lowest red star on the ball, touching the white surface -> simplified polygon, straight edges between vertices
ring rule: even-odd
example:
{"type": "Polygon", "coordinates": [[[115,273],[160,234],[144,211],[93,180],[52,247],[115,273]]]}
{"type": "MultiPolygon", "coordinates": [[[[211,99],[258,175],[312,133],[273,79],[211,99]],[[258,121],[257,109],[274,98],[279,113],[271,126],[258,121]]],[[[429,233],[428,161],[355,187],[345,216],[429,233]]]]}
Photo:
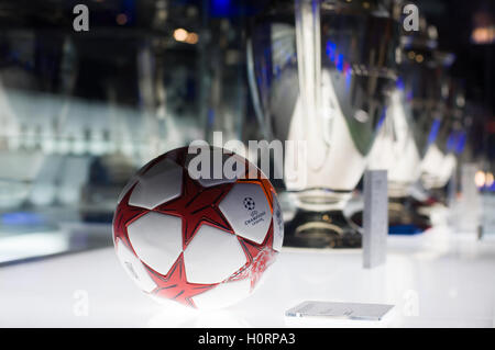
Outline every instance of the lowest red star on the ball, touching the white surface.
{"type": "Polygon", "coordinates": [[[186,269],[184,267],[184,252],[177,258],[166,276],[154,271],[148,266],[144,266],[150,271],[150,276],[157,285],[157,287],[152,291],[153,295],[173,300],[186,306],[196,307],[193,297],[217,286],[217,284],[198,284],[187,281],[186,269]]]}

